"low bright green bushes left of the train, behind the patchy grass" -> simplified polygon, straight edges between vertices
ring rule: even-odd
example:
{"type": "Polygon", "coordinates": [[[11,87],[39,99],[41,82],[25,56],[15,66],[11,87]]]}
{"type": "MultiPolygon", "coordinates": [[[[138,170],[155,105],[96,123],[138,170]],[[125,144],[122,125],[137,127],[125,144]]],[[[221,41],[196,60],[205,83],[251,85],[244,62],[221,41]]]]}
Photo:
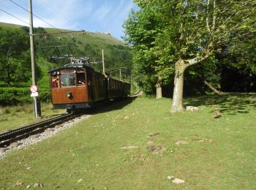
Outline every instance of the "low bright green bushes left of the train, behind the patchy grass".
{"type": "MultiPolygon", "coordinates": [[[[0,88],[0,105],[17,105],[31,103],[29,88],[0,88]]],[[[50,102],[50,89],[40,88],[39,99],[42,102],[50,102]]]]}

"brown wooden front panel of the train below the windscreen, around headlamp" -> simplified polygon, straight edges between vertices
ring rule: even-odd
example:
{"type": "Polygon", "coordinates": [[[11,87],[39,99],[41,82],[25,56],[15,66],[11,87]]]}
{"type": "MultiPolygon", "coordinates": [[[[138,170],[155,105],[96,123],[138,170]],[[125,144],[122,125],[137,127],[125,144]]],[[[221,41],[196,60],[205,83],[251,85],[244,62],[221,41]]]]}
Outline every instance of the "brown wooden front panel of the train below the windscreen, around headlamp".
{"type": "Polygon", "coordinates": [[[86,86],[52,88],[51,96],[52,96],[53,104],[88,102],[88,94],[87,94],[86,86]],[[68,92],[71,92],[72,98],[67,97],[68,92]]]}

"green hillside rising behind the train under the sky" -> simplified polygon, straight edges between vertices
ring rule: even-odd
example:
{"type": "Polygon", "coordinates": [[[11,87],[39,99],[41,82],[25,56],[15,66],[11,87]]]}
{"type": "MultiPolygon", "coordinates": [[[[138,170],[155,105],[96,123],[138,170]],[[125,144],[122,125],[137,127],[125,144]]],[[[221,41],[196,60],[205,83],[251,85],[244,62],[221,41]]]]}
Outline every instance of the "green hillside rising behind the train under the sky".
{"type": "MultiPolygon", "coordinates": [[[[0,23],[1,28],[20,28],[29,35],[29,27],[10,23],[0,23]]],[[[132,57],[129,47],[120,40],[112,37],[110,34],[93,33],[90,31],[81,31],[68,34],[54,34],[61,31],[68,31],[56,28],[34,28],[34,34],[46,34],[34,37],[36,49],[36,64],[42,71],[42,77],[38,80],[38,85],[42,88],[48,88],[48,70],[69,63],[69,59],[53,59],[52,56],[86,56],[90,58],[91,66],[102,71],[102,50],[105,54],[105,67],[118,68],[125,67],[123,72],[130,73],[132,69],[132,57]],[[58,47],[56,46],[63,46],[58,47]]],[[[115,72],[115,71],[113,71],[115,72]]],[[[118,70],[116,70],[118,73],[118,70]]],[[[114,74],[114,73],[113,73],[114,74]]],[[[28,86],[31,81],[24,84],[28,86]],[[27,84],[27,85],[26,85],[27,84]]]]}

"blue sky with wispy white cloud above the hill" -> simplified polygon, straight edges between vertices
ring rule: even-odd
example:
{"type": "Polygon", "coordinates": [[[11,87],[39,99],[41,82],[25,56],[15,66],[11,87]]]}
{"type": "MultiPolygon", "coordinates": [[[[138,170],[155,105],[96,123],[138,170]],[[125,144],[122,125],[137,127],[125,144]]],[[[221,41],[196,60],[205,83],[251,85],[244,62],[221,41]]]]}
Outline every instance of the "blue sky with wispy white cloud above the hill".
{"type": "MultiPolygon", "coordinates": [[[[29,26],[28,0],[0,0],[0,22],[29,26]],[[5,11],[5,12],[3,12],[5,11]],[[6,12],[17,18],[8,15],[6,12]],[[23,21],[26,23],[24,23],[23,21]]],[[[132,0],[32,0],[32,12],[56,28],[85,30],[92,32],[108,31],[121,40],[124,37],[122,24],[130,10],[138,9],[132,0]]],[[[33,18],[34,27],[53,28],[47,23],[33,18]]]]}

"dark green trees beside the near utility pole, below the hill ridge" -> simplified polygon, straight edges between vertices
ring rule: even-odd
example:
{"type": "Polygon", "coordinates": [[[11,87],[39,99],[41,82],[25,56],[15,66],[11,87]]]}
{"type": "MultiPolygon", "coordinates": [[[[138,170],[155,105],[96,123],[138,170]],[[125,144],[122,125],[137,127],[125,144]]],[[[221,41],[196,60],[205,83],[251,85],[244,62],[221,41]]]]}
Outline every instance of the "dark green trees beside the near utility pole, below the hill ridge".
{"type": "MultiPolygon", "coordinates": [[[[20,28],[0,27],[0,81],[11,86],[31,78],[29,36],[20,28]]],[[[38,77],[41,76],[37,66],[38,77]]]]}

